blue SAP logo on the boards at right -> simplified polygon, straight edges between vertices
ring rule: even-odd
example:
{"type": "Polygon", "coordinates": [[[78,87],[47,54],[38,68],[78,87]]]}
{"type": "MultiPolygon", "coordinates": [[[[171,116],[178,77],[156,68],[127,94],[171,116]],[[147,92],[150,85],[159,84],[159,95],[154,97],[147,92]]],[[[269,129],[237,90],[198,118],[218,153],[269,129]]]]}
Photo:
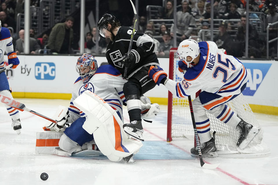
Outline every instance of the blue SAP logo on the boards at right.
{"type": "Polygon", "coordinates": [[[271,64],[259,63],[243,63],[247,71],[252,75],[246,84],[246,88],[242,92],[243,95],[253,96],[264,80],[271,64]]]}

